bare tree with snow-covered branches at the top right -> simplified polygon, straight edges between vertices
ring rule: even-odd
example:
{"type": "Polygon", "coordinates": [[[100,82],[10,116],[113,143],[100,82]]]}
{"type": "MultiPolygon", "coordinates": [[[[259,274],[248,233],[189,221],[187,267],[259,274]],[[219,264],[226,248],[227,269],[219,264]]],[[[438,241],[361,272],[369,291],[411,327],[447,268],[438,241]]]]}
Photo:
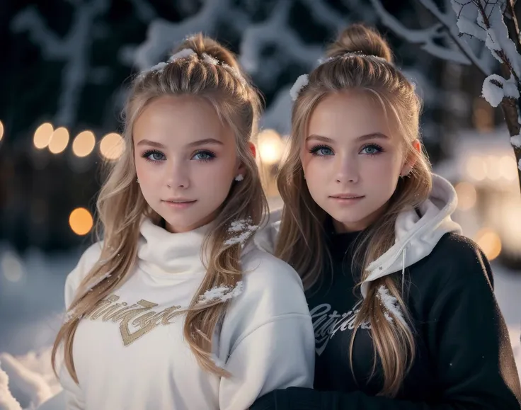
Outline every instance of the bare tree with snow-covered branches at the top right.
{"type": "Polygon", "coordinates": [[[459,64],[472,64],[486,75],[483,98],[493,107],[501,106],[517,161],[521,189],[521,55],[520,30],[514,13],[515,0],[450,0],[442,11],[433,0],[416,0],[435,18],[429,28],[405,27],[382,6],[371,0],[382,23],[396,35],[436,57],[459,64]],[[506,23],[505,23],[506,22],[506,23]],[[440,41],[448,44],[440,45],[440,41]],[[493,56],[500,73],[493,73],[493,56]]]}

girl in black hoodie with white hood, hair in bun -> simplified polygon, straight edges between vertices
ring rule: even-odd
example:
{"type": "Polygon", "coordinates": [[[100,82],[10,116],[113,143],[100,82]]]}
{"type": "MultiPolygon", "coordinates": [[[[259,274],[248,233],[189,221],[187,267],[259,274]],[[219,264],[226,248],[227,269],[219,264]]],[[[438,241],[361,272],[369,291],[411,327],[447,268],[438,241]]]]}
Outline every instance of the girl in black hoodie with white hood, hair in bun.
{"type": "Polygon", "coordinates": [[[285,208],[256,237],[302,277],[315,389],[277,390],[251,410],[519,410],[491,269],[451,220],[454,189],[430,171],[413,84],[362,25],[328,57],[291,91],[285,208]]]}

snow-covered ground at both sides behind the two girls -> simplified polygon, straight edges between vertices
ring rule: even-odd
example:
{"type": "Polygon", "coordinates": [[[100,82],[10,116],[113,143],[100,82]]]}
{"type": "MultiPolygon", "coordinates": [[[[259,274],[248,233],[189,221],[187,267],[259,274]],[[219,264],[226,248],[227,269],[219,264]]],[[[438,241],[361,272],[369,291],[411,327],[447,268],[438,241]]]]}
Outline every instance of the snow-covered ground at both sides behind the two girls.
{"type": "MultiPolygon", "coordinates": [[[[50,345],[62,319],[65,277],[79,258],[69,254],[23,257],[0,247],[0,410],[64,409],[50,366],[50,345]],[[3,371],[2,371],[3,370],[3,371]],[[8,397],[11,395],[16,399],[8,397]]],[[[521,370],[521,271],[493,264],[496,297],[521,370]]]]}

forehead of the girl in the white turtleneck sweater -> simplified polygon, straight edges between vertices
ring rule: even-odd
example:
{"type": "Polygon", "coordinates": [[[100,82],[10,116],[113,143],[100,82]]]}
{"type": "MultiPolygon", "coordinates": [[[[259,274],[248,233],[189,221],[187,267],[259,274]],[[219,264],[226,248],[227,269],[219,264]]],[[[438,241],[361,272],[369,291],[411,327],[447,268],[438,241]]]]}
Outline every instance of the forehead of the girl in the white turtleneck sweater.
{"type": "Polygon", "coordinates": [[[214,106],[205,98],[163,96],[147,104],[134,121],[132,134],[134,142],[147,138],[166,144],[210,137],[224,140],[227,131],[214,106]]]}

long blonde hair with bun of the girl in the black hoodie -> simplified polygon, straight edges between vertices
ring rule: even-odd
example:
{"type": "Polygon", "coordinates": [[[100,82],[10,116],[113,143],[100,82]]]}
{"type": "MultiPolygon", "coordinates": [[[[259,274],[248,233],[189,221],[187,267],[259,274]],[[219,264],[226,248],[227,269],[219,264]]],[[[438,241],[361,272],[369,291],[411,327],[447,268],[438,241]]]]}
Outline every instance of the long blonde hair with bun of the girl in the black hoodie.
{"type": "MultiPolygon", "coordinates": [[[[414,86],[392,64],[387,42],[364,25],[352,25],[328,47],[327,55],[330,58],[309,74],[309,83],[294,103],[289,154],[277,176],[277,187],[285,208],[275,254],[301,274],[307,290],[319,280],[324,266],[331,266],[331,255],[324,237],[327,214],[311,198],[299,159],[309,118],[324,97],[348,91],[365,93],[374,98],[382,105],[386,115],[391,113],[389,119],[394,120],[399,135],[403,137],[406,158],[416,161],[411,173],[399,181],[384,215],[379,217],[378,223],[367,228],[357,241],[353,262],[361,263],[362,278],[358,286],[367,278],[369,263],[394,244],[397,215],[427,199],[432,187],[427,156],[413,146],[420,134],[420,100],[414,86]]],[[[411,368],[416,346],[412,326],[398,318],[389,322],[384,316],[386,311],[377,297],[377,290],[382,285],[396,297],[406,321],[411,322],[401,289],[394,279],[388,275],[374,280],[357,314],[349,354],[352,362],[357,329],[360,324],[369,321],[374,346],[372,374],[379,358],[384,372],[384,384],[379,394],[395,397],[411,368]]]]}

